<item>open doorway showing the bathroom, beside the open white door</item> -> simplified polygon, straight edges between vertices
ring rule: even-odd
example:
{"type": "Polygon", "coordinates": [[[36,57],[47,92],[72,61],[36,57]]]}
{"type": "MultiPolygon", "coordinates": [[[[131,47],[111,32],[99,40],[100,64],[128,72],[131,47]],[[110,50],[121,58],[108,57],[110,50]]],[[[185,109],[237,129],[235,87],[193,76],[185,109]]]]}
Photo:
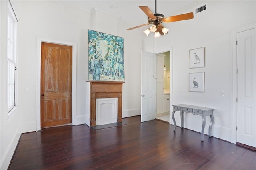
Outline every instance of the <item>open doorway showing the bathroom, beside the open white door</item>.
{"type": "Polygon", "coordinates": [[[156,119],[170,123],[170,51],[156,54],[156,119]]]}

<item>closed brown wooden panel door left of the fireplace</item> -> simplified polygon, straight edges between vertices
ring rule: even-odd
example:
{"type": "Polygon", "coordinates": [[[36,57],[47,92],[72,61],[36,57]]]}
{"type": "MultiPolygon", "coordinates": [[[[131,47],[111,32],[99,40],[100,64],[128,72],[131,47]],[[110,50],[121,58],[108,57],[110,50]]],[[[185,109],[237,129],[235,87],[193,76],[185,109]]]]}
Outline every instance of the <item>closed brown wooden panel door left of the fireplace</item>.
{"type": "Polygon", "coordinates": [[[42,42],[41,128],[71,123],[72,47],[42,42]]]}

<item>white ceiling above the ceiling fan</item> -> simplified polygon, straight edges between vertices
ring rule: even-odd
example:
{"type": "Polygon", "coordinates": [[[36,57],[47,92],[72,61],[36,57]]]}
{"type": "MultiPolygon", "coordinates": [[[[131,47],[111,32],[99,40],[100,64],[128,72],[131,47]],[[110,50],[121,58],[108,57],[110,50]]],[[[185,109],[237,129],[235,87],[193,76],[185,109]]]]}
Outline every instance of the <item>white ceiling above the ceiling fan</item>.
{"type": "MultiPolygon", "coordinates": [[[[96,8],[113,14],[130,24],[130,27],[148,23],[146,14],[138,6],[148,6],[155,13],[155,0],[64,0],[61,2],[87,11],[96,8]]],[[[173,16],[176,11],[193,2],[196,0],[157,0],[156,10],[165,17],[173,16]]]]}

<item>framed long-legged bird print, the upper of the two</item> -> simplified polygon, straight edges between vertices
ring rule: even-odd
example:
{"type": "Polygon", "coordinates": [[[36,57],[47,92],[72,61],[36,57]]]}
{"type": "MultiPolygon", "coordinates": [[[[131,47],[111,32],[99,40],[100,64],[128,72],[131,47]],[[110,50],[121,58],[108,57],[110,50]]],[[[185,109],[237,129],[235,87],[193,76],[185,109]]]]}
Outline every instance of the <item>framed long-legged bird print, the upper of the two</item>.
{"type": "Polygon", "coordinates": [[[200,68],[204,66],[205,47],[189,50],[189,68],[200,68]]]}

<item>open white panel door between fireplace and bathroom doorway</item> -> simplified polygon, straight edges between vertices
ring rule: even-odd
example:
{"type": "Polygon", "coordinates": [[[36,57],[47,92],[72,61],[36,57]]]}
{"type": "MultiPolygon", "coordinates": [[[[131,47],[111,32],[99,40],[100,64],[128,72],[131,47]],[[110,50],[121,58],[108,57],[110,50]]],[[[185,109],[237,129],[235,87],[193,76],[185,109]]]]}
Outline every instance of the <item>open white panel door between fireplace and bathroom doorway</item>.
{"type": "Polygon", "coordinates": [[[156,118],[156,55],[142,51],[141,122],[156,118]]]}

